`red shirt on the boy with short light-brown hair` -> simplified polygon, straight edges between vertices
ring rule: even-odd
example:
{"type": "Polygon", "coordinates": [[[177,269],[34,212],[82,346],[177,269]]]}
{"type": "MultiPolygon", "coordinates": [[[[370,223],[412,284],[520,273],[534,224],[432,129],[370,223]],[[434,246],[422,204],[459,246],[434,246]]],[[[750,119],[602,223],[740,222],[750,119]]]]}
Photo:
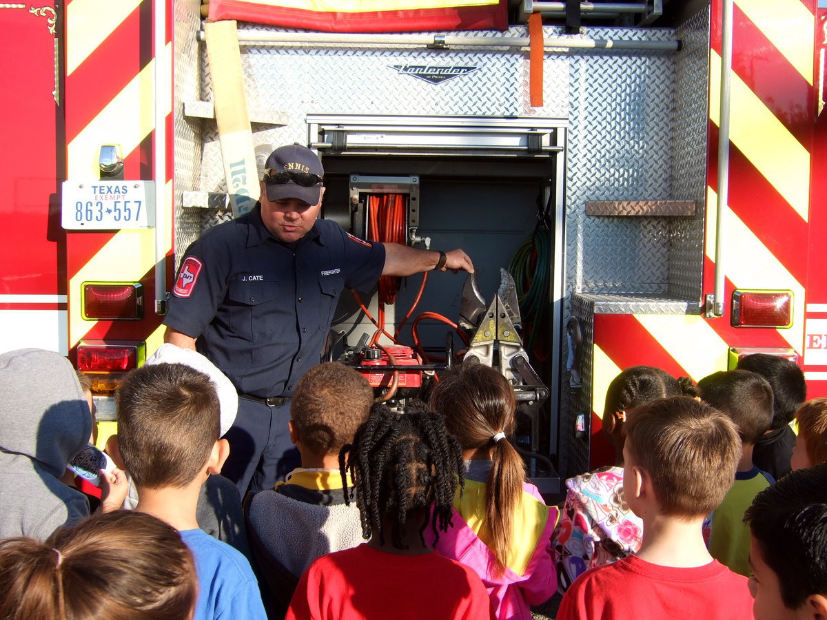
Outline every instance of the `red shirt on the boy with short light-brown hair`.
{"type": "Polygon", "coordinates": [[[587,570],[566,590],[557,620],[752,620],[747,578],[717,560],[674,568],[625,557],[587,570]]]}

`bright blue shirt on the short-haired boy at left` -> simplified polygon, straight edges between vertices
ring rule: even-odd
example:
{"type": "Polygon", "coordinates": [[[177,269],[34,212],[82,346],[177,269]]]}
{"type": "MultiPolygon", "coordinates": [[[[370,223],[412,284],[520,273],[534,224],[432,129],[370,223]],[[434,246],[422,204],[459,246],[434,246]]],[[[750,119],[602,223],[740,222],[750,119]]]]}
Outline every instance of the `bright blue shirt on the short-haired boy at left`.
{"type": "Polygon", "coordinates": [[[194,620],[267,618],[256,576],[241,552],[203,530],[184,530],[181,538],[193,553],[198,573],[194,620]]]}

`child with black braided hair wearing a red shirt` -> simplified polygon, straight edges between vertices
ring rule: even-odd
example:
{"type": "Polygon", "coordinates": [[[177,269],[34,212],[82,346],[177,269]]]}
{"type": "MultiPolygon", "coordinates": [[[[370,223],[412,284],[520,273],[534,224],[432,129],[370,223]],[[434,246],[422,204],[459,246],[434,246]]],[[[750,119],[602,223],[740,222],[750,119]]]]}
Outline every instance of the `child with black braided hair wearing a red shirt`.
{"type": "Polygon", "coordinates": [[[426,542],[426,531],[438,538],[449,527],[463,480],[459,446],[442,419],[423,407],[375,405],[339,460],[370,540],[314,561],[285,620],[492,618],[474,571],[426,542]]]}

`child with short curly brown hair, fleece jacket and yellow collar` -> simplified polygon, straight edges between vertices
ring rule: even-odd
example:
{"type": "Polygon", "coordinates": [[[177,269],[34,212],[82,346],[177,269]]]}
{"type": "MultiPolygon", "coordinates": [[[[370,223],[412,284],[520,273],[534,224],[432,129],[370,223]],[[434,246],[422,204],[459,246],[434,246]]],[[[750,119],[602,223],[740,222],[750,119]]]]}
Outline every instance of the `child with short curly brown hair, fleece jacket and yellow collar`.
{"type": "Polygon", "coordinates": [[[373,398],[367,379],[337,362],[313,367],[296,386],[289,431],[302,466],[255,494],[248,516],[253,555],[275,597],[265,594],[265,601],[282,613],[313,560],[362,542],[359,509],[342,492],[339,452],[366,421],[373,398]]]}

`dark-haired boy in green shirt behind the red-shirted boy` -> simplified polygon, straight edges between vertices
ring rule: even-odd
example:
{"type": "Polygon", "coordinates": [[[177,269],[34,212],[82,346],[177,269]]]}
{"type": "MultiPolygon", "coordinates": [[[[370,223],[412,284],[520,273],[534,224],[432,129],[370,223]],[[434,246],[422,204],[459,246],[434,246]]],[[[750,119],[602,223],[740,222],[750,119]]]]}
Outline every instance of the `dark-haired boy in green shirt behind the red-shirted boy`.
{"type": "Polygon", "coordinates": [[[738,427],[741,458],[735,482],[724,501],[712,513],[710,554],[740,575],[749,575],[749,531],[743,513],[753,498],[775,482],[772,475],[753,464],[753,446],[772,423],[772,388],[760,374],[729,370],[698,381],[700,398],[738,427]]]}

